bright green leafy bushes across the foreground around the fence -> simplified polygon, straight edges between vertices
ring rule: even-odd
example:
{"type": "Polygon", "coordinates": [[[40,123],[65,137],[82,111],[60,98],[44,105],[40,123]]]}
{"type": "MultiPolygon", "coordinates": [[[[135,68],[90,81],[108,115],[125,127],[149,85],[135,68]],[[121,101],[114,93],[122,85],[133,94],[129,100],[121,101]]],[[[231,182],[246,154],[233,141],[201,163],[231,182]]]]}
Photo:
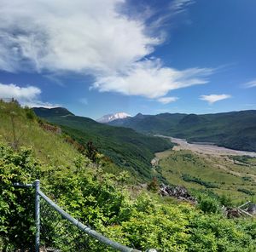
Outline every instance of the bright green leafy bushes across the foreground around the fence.
{"type": "MultiPolygon", "coordinates": [[[[33,192],[15,188],[13,183],[31,182],[38,177],[42,190],[68,213],[108,238],[137,249],[234,252],[256,249],[255,221],[225,219],[208,198],[201,201],[201,209],[204,205],[205,212],[212,214],[204,214],[187,203],[160,203],[146,193],[131,198],[124,186],[125,174],[105,173],[82,156],[76,157],[71,169],[53,169],[38,163],[27,149],[15,152],[1,145],[0,162],[0,237],[5,251],[32,248],[33,192]]],[[[51,224],[47,243],[55,240],[66,251],[58,238],[60,232],[60,227],[55,230],[51,224]]],[[[90,251],[108,249],[90,240],[90,251]]]]}

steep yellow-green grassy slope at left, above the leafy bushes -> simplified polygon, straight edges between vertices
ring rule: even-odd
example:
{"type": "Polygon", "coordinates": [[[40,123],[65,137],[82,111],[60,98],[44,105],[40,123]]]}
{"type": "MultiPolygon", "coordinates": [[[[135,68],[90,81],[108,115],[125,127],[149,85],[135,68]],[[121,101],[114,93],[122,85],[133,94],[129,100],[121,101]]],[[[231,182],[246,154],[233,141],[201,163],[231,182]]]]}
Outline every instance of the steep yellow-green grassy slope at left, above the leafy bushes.
{"type": "Polygon", "coordinates": [[[18,147],[31,147],[35,156],[44,163],[56,166],[68,166],[79,154],[73,146],[67,144],[60,135],[41,129],[31,112],[14,103],[0,101],[0,141],[14,143],[11,114],[14,115],[15,135],[18,147]]]}

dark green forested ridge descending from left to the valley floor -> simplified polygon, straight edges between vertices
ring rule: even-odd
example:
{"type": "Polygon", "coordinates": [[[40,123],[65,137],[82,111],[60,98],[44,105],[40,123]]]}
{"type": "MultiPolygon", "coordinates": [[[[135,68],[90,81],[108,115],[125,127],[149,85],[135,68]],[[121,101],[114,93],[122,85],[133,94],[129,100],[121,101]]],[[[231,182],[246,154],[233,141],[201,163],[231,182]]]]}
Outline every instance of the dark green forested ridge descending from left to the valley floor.
{"type": "Polygon", "coordinates": [[[130,170],[138,177],[150,178],[150,161],[154,158],[154,152],[161,152],[173,146],[168,140],[143,135],[133,129],[97,123],[88,117],[62,116],[55,113],[55,109],[45,108],[34,109],[34,112],[50,123],[59,125],[62,132],[80,144],[86,146],[88,141],[92,141],[98,151],[110,158],[113,163],[130,170]]]}

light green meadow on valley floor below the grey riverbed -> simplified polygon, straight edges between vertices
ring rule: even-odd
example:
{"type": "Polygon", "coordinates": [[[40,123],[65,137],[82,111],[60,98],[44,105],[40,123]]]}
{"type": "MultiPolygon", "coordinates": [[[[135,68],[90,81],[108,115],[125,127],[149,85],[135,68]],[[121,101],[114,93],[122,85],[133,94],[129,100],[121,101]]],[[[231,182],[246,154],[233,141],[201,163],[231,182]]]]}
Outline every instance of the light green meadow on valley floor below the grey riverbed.
{"type": "Polygon", "coordinates": [[[206,186],[193,181],[183,180],[182,175],[190,175],[218,186],[210,190],[218,195],[230,195],[235,202],[252,200],[252,196],[238,192],[239,188],[256,194],[256,165],[253,163],[255,158],[248,161],[251,164],[248,166],[247,163],[235,164],[232,158],[198,156],[189,151],[160,152],[157,157],[160,158],[159,169],[162,175],[166,176],[171,184],[183,185],[190,189],[207,189],[206,186]]]}

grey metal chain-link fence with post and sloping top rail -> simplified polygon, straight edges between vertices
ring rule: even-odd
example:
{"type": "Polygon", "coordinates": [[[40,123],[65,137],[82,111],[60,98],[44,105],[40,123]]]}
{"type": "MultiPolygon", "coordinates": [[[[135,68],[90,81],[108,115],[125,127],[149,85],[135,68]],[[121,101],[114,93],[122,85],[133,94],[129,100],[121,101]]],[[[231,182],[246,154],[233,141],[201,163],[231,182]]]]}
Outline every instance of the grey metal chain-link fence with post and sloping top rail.
{"type": "MultiPolygon", "coordinates": [[[[14,186],[35,188],[36,252],[117,250],[141,252],[141,250],[129,248],[103,236],[67,214],[40,190],[39,180],[35,180],[33,184],[15,183],[14,186]]],[[[147,251],[156,252],[155,249],[147,251]]]]}

